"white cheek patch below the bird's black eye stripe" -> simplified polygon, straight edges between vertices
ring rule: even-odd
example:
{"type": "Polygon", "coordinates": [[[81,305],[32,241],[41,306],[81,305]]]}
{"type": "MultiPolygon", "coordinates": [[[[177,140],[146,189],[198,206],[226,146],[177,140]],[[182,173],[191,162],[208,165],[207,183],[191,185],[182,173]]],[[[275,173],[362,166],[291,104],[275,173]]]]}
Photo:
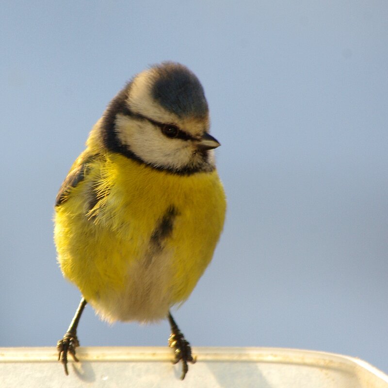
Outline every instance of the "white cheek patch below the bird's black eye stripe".
{"type": "Polygon", "coordinates": [[[169,139],[146,120],[118,115],[116,128],[120,129],[120,142],[148,164],[179,169],[193,162],[194,145],[190,140],[169,139]]]}

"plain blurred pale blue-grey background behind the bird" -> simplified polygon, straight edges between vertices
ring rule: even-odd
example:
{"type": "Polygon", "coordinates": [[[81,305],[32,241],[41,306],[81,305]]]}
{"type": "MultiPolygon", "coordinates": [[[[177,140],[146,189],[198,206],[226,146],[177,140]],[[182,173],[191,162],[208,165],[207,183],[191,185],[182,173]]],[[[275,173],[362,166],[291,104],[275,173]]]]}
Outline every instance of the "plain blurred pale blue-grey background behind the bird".
{"type": "MultiPolygon", "coordinates": [[[[205,88],[229,206],[175,313],[186,337],[388,372],[386,1],[2,1],[0,37],[0,346],[64,334],[80,295],[55,260],[55,195],[110,99],[173,60],[205,88]]],[[[82,345],[168,335],[90,307],[79,327],[82,345]]]]}

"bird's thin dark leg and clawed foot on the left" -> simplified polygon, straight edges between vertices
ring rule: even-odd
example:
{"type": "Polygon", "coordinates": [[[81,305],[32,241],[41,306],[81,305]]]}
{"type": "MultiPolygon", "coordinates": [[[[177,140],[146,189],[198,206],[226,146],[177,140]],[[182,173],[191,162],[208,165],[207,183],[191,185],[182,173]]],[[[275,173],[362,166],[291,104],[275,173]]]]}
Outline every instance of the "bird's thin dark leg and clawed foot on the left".
{"type": "Polygon", "coordinates": [[[67,371],[67,352],[71,354],[74,361],[78,361],[78,358],[76,357],[76,347],[80,346],[80,342],[77,338],[77,326],[80,322],[81,314],[86,306],[86,303],[87,302],[85,298],[82,297],[80,305],[77,308],[74,318],[71,321],[70,326],[64,335],[64,338],[57,342],[57,350],[59,352],[58,361],[61,360],[62,364],[64,364],[66,375],[69,374],[67,371]]]}

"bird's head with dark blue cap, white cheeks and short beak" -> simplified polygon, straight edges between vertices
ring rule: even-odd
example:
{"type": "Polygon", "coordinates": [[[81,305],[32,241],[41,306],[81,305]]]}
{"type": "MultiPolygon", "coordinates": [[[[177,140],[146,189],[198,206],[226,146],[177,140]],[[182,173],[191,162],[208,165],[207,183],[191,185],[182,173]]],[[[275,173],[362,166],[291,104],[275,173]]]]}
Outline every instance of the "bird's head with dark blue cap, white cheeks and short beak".
{"type": "Polygon", "coordinates": [[[209,109],[201,83],[185,66],[165,62],[135,76],[101,120],[104,146],[174,173],[214,168],[209,109]]]}

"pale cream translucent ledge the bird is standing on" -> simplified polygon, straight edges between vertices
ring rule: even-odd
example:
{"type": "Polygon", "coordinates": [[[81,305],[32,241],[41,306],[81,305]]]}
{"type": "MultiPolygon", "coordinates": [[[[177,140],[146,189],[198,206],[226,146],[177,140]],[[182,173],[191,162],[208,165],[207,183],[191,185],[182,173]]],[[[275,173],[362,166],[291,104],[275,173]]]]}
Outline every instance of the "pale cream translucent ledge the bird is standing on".
{"type": "Polygon", "coordinates": [[[54,347],[0,348],[0,387],[388,388],[358,358],[279,348],[196,348],[182,382],[167,347],[80,347],[65,376],[54,347]]]}

